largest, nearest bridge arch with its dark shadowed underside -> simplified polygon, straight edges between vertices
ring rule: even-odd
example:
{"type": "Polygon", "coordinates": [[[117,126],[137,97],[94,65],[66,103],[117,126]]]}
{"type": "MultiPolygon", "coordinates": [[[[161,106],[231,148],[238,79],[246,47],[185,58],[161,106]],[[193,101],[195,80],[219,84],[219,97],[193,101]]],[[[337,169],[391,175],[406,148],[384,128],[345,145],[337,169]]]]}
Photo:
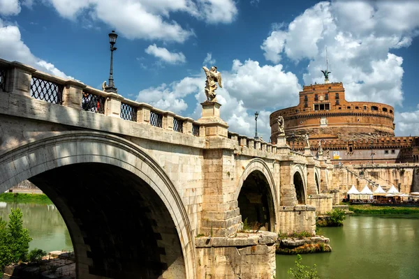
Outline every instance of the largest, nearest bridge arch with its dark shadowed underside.
{"type": "Polygon", "coordinates": [[[145,278],[164,272],[196,278],[194,238],[182,199],[159,164],[132,142],[105,133],[64,132],[4,153],[0,169],[0,193],[29,179],[52,199],[71,235],[78,278],[132,278],[139,272],[145,278]],[[110,185],[109,179],[118,183],[110,185]],[[81,200],[89,204],[80,207],[81,200]],[[101,253],[110,256],[98,260],[101,253]]]}

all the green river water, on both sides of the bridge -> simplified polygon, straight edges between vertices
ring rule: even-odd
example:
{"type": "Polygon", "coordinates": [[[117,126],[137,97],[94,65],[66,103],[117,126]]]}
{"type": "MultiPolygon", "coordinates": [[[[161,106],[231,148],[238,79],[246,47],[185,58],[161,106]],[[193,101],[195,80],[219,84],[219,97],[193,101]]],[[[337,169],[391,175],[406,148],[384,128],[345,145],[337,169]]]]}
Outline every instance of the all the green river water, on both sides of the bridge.
{"type": "MultiPolygon", "coordinates": [[[[54,205],[0,202],[0,217],[20,207],[24,227],[33,241],[30,249],[73,250],[71,238],[54,205]]],[[[344,227],[322,228],[332,252],[302,255],[302,264],[317,264],[326,278],[419,278],[419,216],[348,216],[344,227]]],[[[291,278],[287,271],[296,256],[277,255],[277,279],[291,278]]]]}

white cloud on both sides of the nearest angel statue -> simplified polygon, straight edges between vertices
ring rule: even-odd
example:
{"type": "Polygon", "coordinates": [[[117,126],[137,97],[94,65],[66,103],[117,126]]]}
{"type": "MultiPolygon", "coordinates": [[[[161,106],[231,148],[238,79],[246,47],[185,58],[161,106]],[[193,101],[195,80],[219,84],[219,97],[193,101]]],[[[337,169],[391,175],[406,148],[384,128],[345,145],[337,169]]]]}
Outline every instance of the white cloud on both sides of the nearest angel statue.
{"type": "MultiPolygon", "coordinates": [[[[230,70],[221,70],[223,88],[216,90],[221,105],[221,118],[230,130],[242,135],[254,136],[254,113],[258,111],[258,131],[265,141],[270,139],[269,114],[289,105],[295,105],[301,87],[293,73],[285,72],[281,65],[260,66],[258,61],[234,60],[230,70]],[[271,111],[272,110],[272,111],[271,111]]],[[[193,95],[196,105],[191,115],[201,116],[200,103],[205,100],[205,74],[150,87],[138,93],[137,100],[182,114],[188,105],[184,98],[193,95]]],[[[186,115],[185,115],[186,116],[186,115]]]]}

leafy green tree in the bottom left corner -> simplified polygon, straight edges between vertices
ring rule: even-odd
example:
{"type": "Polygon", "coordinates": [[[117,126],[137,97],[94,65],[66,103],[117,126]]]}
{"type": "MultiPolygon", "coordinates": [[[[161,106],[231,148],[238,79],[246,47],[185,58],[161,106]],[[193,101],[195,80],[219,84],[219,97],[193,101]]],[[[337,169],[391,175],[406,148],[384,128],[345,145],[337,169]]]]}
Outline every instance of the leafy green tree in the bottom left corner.
{"type": "Polygon", "coordinates": [[[0,270],[27,257],[32,239],[29,230],[23,227],[22,215],[17,208],[10,212],[8,223],[0,218],[0,270]]]}

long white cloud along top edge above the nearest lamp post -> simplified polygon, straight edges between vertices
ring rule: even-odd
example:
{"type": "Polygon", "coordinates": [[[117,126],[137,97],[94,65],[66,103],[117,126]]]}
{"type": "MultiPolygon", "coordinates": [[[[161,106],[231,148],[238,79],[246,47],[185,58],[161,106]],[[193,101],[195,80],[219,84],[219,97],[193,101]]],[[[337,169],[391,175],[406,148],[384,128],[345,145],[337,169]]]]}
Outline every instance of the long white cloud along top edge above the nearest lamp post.
{"type": "Polygon", "coordinates": [[[126,38],[183,43],[193,30],[170,19],[184,12],[210,24],[230,23],[237,14],[233,0],[49,0],[59,15],[71,20],[89,16],[115,27],[126,38]]]}

